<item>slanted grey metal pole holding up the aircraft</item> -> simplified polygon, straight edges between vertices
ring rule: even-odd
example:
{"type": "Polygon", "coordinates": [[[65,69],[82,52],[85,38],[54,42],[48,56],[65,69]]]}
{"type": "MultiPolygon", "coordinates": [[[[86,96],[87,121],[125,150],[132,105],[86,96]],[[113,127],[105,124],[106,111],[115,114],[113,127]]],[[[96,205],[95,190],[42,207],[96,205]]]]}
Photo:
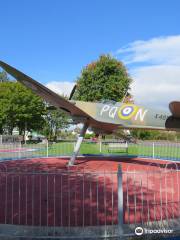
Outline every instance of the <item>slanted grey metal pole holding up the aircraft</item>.
{"type": "Polygon", "coordinates": [[[81,129],[80,135],[78,137],[78,140],[76,142],[76,145],[75,145],[75,148],[74,148],[74,152],[73,152],[73,154],[72,154],[72,156],[71,156],[71,158],[70,158],[70,160],[68,162],[68,166],[73,166],[74,165],[74,162],[75,162],[76,157],[77,157],[77,155],[79,153],[79,149],[80,149],[80,146],[81,146],[81,143],[83,141],[83,138],[84,138],[84,135],[86,133],[87,128],[88,128],[88,124],[84,123],[83,128],[81,129]]]}

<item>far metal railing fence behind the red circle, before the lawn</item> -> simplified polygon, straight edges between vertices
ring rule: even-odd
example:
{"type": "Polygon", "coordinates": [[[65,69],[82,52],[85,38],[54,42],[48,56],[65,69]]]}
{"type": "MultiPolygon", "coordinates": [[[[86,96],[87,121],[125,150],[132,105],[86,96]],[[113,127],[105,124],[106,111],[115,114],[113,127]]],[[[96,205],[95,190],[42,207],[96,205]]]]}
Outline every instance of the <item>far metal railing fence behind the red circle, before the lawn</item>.
{"type": "MultiPolygon", "coordinates": [[[[70,156],[73,153],[74,146],[75,141],[38,144],[21,144],[21,142],[0,144],[0,160],[70,156]]],[[[81,145],[79,155],[136,156],[180,160],[180,143],[149,141],[138,142],[136,144],[127,143],[126,147],[125,143],[120,143],[117,140],[102,142],[84,141],[81,145]]]]}

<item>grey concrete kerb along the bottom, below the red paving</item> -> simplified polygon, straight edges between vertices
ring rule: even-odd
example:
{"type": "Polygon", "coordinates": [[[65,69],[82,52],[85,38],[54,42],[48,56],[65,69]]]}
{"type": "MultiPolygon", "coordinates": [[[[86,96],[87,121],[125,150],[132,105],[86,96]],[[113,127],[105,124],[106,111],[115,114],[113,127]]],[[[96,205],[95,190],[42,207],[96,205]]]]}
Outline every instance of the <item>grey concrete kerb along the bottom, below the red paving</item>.
{"type": "MultiPolygon", "coordinates": [[[[171,220],[173,234],[179,234],[180,218],[171,220]]],[[[119,239],[119,237],[136,236],[135,228],[171,229],[166,220],[149,222],[148,224],[123,224],[123,235],[119,235],[118,225],[86,226],[86,227],[54,227],[54,226],[24,226],[0,224],[0,239],[119,239]]],[[[149,236],[149,235],[148,235],[149,236]]]]}

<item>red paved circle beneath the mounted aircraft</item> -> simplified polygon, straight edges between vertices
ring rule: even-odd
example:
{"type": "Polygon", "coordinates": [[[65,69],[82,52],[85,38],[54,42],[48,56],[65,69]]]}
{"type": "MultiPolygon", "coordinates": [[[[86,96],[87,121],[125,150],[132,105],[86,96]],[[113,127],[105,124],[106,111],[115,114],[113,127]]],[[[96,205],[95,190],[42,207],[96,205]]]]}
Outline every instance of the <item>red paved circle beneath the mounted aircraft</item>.
{"type": "Polygon", "coordinates": [[[123,171],[124,222],[180,216],[179,164],[139,158],[66,158],[0,163],[0,223],[89,226],[117,223],[117,169],[123,171]],[[167,166],[166,166],[167,165],[167,166]],[[165,168],[167,167],[167,169],[165,168]]]}

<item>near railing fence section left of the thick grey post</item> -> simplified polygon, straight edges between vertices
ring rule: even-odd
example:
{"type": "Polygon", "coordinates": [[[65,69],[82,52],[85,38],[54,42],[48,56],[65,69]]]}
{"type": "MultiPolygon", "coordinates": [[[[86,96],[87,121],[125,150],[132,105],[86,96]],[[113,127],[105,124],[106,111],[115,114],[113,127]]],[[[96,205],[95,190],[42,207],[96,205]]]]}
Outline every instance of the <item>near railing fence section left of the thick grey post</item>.
{"type": "Polygon", "coordinates": [[[1,163],[0,234],[12,225],[19,235],[26,229],[32,236],[61,236],[76,228],[86,235],[90,227],[106,234],[117,225],[116,183],[116,172],[19,171],[1,163]]]}

